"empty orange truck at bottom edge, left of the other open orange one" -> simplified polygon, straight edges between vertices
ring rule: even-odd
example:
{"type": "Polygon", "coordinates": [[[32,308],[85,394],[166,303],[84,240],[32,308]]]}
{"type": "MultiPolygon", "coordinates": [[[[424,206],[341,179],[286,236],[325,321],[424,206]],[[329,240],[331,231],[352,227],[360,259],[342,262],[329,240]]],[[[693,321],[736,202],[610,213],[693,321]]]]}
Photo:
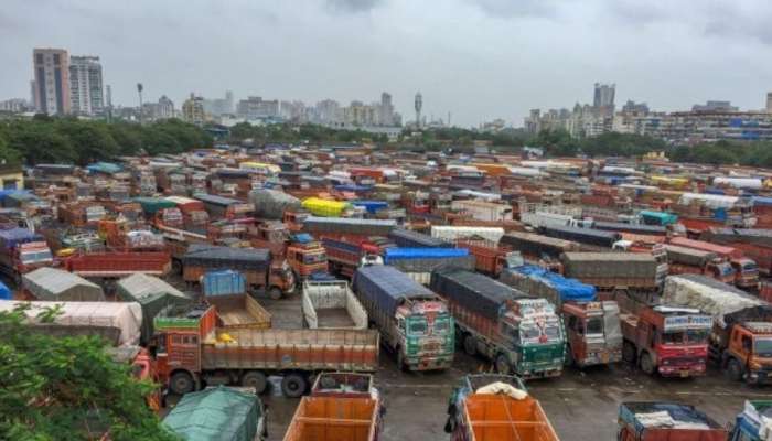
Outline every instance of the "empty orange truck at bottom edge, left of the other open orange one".
{"type": "Polygon", "coordinates": [[[285,441],[376,441],[384,408],[367,374],[323,373],[303,397],[285,441]]]}

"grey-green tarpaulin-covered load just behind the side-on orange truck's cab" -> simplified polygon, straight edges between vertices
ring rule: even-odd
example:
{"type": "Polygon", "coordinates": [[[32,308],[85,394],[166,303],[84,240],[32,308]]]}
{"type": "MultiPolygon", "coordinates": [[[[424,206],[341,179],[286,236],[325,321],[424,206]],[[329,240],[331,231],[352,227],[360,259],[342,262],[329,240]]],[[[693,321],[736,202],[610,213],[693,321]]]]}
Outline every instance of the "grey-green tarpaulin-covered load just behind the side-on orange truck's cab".
{"type": "Polygon", "coordinates": [[[131,275],[116,283],[116,294],[127,302],[137,302],[142,306],[142,343],[148,343],[153,335],[153,319],[164,308],[184,306],[193,302],[180,290],[165,281],[143,273],[131,275]]]}

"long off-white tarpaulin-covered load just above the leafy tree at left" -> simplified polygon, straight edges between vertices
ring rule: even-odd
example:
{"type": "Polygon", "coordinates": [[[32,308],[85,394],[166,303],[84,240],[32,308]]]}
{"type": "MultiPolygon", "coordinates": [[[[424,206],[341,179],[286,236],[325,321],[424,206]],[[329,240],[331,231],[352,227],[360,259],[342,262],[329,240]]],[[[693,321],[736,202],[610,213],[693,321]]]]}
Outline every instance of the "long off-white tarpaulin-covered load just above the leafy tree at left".
{"type": "Polygon", "coordinates": [[[139,303],[9,300],[0,302],[0,311],[10,312],[22,304],[29,305],[24,314],[30,324],[55,326],[57,335],[98,335],[114,346],[139,345],[142,329],[142,306],[139,303]],[[58,308],[62,313],[55,315],[52,323],[43,323],[39,315],[52,308],[58,308]]]}

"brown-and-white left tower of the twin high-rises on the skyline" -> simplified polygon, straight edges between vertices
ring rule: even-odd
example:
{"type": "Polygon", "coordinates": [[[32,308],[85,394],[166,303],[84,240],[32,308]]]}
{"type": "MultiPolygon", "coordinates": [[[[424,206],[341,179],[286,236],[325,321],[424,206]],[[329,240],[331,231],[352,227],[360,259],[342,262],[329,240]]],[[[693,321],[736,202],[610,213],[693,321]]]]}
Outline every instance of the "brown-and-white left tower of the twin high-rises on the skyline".
{"type": "Polygon", "coordinates": [[[69,55],[63,49],[32,51],[36,111],[69,114],[69,55]]]}

